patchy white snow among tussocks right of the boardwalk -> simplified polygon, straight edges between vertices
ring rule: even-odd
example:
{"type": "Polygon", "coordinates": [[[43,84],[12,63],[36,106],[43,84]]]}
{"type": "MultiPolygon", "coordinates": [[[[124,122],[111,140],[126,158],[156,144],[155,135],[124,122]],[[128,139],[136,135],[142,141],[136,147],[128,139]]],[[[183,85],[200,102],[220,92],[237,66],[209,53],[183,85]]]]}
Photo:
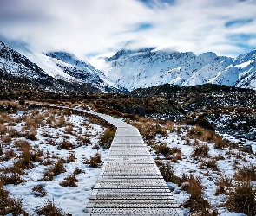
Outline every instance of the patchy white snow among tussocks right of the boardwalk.
{"type": "MultiPolygon", "coordinates": [[[[219,215],[221,216],[241,216],[246,215],[244,213],[231,213],[226,207],[223,206],[228,198],[226,194],[215,195],[217,189],[217,182],[222,178],[230,178],[233,183],[233,174],[238,170],[238,168],[243,168],[244,166],[251,166],[252,164],[256,164],[256,156],[254,154],[242,153],[239,149],[230,149],[225,148],[223,150],[219,150],[214,148],[214,143],[211,142],[203,142],[198,139],[199,144],[207,144],[209,151],[207,157],[194,157],[192,153],[194,151],[194,141],[195,139],[189,138],[188,132],[191,129],[191,126],[187,125],[179,125],[175,126],[176,131],[167,131],[167,137],[157,135],[155,137],[155,143],[167,143],[169,148],[179,148],[181,149],[181,160],[178,162],[171,162],[171,165],[174,167],[175,175],[178,177],[182,177],[182,175],[194,175],[195,177],[199,177],[201,179],[201,185],[205,187],[203,189],[204,194],[203,198],[208,200],[213,209],[218,210],[219,215]],[[179,132],[177,132],[180,130],[179,132]],[[187,144],[187,141],[190,144],[187,144]],[[222,157],[223,156],[223,157],[222,157]],[[218,159],[219,158],[219,159],[218,159]],[[205,166],[202,167],[201,163],[203,161],[208,161],[214,159],[216,160],[218,171],[214,171],[211,168],[207,168],[205,166]],[[237,166],[237,168],[234,168],[237,166]]],[[[165,160],[165,156],[160,155],[157,156],[155,154],[154,149],[148,146],[151,154],[154,156],[154,159],[161,159],[162,162],[169,162],[165,160]],[[158,157],[158,158],[157,158],[158,157]]],[[[181,190],[181,187],[178,187],[177,184],[172,182],[167,182],[168,187],[173,188],[172,192],[174,195],[174,199],[178,202],[178,205],[184,203],[189,195],[187,191],[181,190]]],[[[253,182],[254,187],[256,187],[256,182],[253,182]]],[[[225,188],[228,190],[228,188],[225,188]]],[[[183,211],[183,215],[187,216],[189,214],[189,209],[181,208],[183,211]]]]}

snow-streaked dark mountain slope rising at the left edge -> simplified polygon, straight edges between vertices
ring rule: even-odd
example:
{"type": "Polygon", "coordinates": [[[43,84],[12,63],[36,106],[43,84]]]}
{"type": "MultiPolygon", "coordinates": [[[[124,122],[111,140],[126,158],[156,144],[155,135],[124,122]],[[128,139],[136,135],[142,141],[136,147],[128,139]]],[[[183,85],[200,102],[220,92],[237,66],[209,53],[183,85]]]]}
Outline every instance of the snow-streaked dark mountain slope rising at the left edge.
{"type": "MultiPolygon", "coordinates": [[[[18,52],[0,41],[1,76],[39,82],[49,91],[127,92],[115,85],[104,73],[75,55],[64,52],[40,54],[31,52],[16,43],[11,44],[18,52]],[[46,85],[46,86],[45,86],[46,85]]],[[[38,85],[37,85],[38,86],[38,85]]]]}

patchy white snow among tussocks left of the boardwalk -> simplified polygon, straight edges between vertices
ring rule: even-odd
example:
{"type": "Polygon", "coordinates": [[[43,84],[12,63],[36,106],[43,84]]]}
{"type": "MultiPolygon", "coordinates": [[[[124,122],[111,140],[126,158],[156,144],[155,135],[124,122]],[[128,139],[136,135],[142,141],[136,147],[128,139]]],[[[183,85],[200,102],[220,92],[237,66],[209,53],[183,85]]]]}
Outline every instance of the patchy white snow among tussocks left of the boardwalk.
{"type": "MultiPolygon", "coordinates": [[[[40,111],[44,114],[47,111],[40,111]]],[[[18,115],[11,115],[13,118],[24,117],[23,112],[19,112],[18,115]]],[[[30,116],[30,113],[27,114],[30,116]]],[[[56,118],[58,115],[55,114],[56,118]]],[[[102,162],[106,155],[108,154],[108,149],[93,149],[92,147],[98,142],[99,136],[102,134],[106,128],[102,128],[99,124],[92,124],[89,122],[88,118],[84,118],[77,115],[65,116],[66,124],[72,125],[72,134],[67,133],[65,127],[51,127],[48,124],[43,126],[38,126],[36,138],[37,141],[30,141],[30,146],[32,149],[43,150],[43,161],[51,160],[56,161],[59,158],[67,159],[70,154],[74,154],[76,157],[75,162],[64,163],[64,168],[66,172],[56,175],[53,181],[42,181],[43,172],[50,165],[46,166],[40,164],[39,162],[34,162],[35,168],[27,169],[25,175],[21,177],[26,181],[21,184],[14,186],[9,184],[4,187],[5,190],[10,192],[10,197],[23,200],[23,209],[30,215],[35,215],[36,206],[43,206],[48,200],[54,200],[56,206],[62,209],[63,212],[72,215],[82,215],[86,209],[87,202],[89,200],[90,194],[92,192],[92,187],[95,185],[95,181],[100,172],[101,168],[90,168],[89,165],[83,164],[86,158],[89,156],[94,156],[95,153],[100,153],[102,156],[102,162]],[[86,126],[84,126],[86,125],[86,126]],[[89,137],[91,144],[78,144],[77,136],[89,137]],[[52,137],[52,138],[49,138],[52,137]],[[61,143],[63,139],[68,140],[70,143],[75,145],[72,150],[58,149],[57,144],[61,143]],[[55,145],[49,144],[49,139],[54,140],[55,145]],[[49,158],[47,159],[47,155],[49,158]],[[64,178],[71,175],[75,168],[82,170],[81,174],[75,175],[78,180],[77,187],[62,187],[59,185],[64,178]],[[43,185],[43,191],[46,194],[38,194],[32,191],[33,187],[37,185],[43,185]],[[37,194],[37,195],[36,195],[37,194]],[[44,195],[44,196],[43,196],[44,195]]],[[[43,122],[45,122],[44,119],[43,122]]],[[[8,124],[5,124],[6,126],[8,124]]],[[[16,129],[21,132],[24,128],[25,123],[21,121],[16,124],[16,126],[8,126],[9,128],[16,129]]],[[[18,137],[18,140],[26,140],[24,137],[18,137]]],[[[13,138],[10,144],[3,147],[3,152],[8,149],[14,149],[17,155],[21,152],[17,151],[15,148],[15,140],[13,138]]],[[[3,154],[4,155],[4,154],[3,154]]],[[[13,165],[17,158],[10,159],[9,161],[0,162],[0,168],[7,168],[13,165]]]]}

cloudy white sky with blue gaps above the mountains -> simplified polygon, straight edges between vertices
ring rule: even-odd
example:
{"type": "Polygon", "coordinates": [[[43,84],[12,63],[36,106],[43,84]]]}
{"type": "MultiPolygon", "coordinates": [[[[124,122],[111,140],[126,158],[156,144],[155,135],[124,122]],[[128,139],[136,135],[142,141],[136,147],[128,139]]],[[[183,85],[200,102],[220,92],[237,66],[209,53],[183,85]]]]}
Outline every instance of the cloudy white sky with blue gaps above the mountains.
{"type": "Polygon", "coordinates": [[[256,48],[256,0],[0,0],[0,37],[89,62],[138,39],[236,57],[256,48]]]}

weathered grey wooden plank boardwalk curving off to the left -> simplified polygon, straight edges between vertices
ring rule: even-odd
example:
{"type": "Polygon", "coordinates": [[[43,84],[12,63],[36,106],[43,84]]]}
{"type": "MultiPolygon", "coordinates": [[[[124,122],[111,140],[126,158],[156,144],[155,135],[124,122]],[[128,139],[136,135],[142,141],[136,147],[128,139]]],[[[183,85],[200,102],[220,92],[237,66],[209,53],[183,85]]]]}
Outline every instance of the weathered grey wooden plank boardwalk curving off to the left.
{"type": "MultiPolygon", "coordinates": [[[[67,109],[56,105],[43,106],[67,109]]],[[[68,109],[98,116],[117,128],[84,215],[181,216],[173,195],[135,127],[94,111],[68,109]]]]}

